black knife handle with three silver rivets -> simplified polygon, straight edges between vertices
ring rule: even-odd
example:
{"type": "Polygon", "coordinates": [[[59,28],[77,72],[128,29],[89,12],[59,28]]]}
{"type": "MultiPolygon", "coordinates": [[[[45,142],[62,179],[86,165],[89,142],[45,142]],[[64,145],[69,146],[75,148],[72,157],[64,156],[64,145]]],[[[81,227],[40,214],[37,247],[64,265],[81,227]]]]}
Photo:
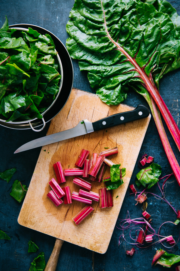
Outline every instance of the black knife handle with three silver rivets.
{"type": "Polygon", "coordinates": [[[136,109],[123,113],[114,114],[104,119],[93,122],[94,131],[110,128],[121,125],[134,120],[141,120],[147,118],[149,109],[144,105],[138,105],[136,109]]]}

